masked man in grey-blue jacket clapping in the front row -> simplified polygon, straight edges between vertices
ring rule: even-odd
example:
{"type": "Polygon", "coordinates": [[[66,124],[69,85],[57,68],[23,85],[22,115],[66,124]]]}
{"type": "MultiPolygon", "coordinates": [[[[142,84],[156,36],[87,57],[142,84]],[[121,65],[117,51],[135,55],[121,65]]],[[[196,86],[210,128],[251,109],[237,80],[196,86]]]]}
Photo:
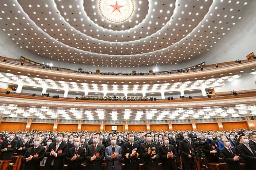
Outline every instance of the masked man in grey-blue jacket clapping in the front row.
{"type": "Polygon", "coordinates": [[[105,170],[121,170],[122,147],[117,145],[117,138],[111,137],[111,145],[105,150],[105,159],[107,161],[105,170]]]}

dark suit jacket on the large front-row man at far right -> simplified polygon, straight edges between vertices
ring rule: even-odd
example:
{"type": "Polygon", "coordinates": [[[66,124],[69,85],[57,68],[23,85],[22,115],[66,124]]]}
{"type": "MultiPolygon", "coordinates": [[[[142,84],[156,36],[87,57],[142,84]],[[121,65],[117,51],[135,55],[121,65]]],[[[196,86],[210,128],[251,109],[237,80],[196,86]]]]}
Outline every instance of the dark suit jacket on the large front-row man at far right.
{"type": "Polygon", "coordinates": [[[252,145],[249,145],[252,152],[244,145],[244,144],[238,144],[238,152],[240,156],[243,158],[245,164],[246,164],[246,169],[251,170],[252,167],[256,167],[256,153],[255,153],[255,148],[252,145]]]}

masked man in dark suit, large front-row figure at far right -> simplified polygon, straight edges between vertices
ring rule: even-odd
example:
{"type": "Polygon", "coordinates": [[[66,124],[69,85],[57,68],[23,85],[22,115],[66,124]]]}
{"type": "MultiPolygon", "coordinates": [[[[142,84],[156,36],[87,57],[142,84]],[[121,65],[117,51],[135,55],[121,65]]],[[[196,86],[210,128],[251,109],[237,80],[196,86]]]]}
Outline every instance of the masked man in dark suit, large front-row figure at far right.
{"type": "Polygon", "coordinates": [[[246,169],[252,170],[256,167],[256,153],[255,148],[249,145],[249,139],[245,135],[239,136],[240,144],[238,144],[238,153],[243,158],[246,169]]]}

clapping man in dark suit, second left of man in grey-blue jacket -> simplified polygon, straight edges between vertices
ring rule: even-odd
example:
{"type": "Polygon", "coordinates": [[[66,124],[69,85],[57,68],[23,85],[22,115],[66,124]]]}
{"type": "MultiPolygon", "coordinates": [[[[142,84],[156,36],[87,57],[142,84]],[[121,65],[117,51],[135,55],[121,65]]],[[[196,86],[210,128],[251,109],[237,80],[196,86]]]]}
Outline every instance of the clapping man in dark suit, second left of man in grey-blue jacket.
{"type": "Polygon", "coordinates": [[[68,150],[66,157],[66,162],[68,163],[67,170],[80,170],[84,158],[84,148],[80,147],[80,139],[76,138],[74,140],[74,147],[68,150]]]}

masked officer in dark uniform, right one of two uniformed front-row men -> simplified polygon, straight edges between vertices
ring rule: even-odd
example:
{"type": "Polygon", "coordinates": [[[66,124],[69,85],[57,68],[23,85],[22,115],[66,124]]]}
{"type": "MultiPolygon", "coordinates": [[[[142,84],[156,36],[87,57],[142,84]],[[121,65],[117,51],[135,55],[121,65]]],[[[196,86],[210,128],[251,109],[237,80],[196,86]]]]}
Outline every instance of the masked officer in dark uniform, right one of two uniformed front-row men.
{"type": "Polygon", "coordinates": [[[146,133],[146,142],[141,145],[140,155],[144,158],[144,170],[158,170],[158,147],[151,142],[150,133],[146,133]]]}

